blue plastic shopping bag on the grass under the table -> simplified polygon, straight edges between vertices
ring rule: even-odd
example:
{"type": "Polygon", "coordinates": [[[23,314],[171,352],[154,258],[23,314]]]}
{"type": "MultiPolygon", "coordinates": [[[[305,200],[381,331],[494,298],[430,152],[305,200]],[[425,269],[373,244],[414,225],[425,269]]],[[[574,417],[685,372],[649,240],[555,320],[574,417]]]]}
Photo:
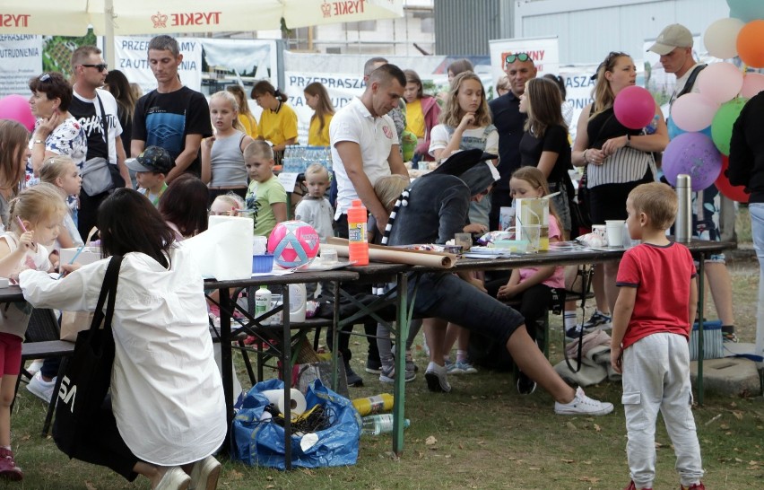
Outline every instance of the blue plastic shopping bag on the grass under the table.
{"type": "MultiPolygon", "coordinates": [[[[286,468],[284,459],[284,429],[273,419],[261,421],[268,399],[262,394],[268,389],[283,389],[283,381],[257,383],[247,393],[239,413],[233,420],[231,454],[249,466],[286,468]]],[[[316,405],[324,408],[330,425],[316,433],[318,441],[303,450],[301,435],[291,435],[291,465],[295,468],[347,466],[358,459],[360,416],[348,398],[326,388],[320,380],[308,386],[305,395],[308,410],[316,405]]]]}

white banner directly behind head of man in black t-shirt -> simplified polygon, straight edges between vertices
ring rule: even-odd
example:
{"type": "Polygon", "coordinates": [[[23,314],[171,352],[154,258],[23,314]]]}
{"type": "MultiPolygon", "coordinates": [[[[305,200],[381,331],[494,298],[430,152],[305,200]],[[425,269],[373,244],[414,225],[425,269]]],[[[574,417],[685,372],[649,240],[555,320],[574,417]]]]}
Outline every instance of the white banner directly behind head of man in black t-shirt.
{"type": "MultiPolygon", "coordinates": [[[[178,66],[180,81],[197,92],[202,89],[202,43],[195,38],[177,38],[183,61],[178,66]]],[[[114,52],[117,66],[130,82],[141,85],[143,93],[157,87],[157,81],[149,66],[149,41],[139,36],[116,36],[114,52]]]]}

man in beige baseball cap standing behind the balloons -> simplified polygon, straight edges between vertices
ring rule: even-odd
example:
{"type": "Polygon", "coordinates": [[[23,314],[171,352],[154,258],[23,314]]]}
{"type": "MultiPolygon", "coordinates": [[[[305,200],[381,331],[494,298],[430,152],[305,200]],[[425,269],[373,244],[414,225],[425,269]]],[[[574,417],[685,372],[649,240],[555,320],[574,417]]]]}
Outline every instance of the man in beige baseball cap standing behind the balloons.
{"type": "MultiPolygon", "coordinates": [[[[692,33],[682,24],[667,26],[655,39],[650,51],[661,56],[661,65],[668,74],[676,75],[676,87],[671,101],[673,105],[683,94],[699,92],[697,76],[705,65],[699,65],[692,57],[692,33]],[[688,84],[690,86],[688,87],[688,84]]],[[[716,186],[692,193],[692,234],[696,238],[719,241],[719,211],[721,196],[716,186]],[[703,206],[697,206],[698,200],[703,206]],[[701,211],[697,211],[701,210],[701,211]],[[700,213],[700,214],[699,214],[700,213]]],[[[714,299],[716,313],[722,320],[725,341],[737,341],[734,333],[734,312],[732,304],[732,282],[727,271],[724,254],[715,254],[706,260],[706,276],[714,299]]]]}

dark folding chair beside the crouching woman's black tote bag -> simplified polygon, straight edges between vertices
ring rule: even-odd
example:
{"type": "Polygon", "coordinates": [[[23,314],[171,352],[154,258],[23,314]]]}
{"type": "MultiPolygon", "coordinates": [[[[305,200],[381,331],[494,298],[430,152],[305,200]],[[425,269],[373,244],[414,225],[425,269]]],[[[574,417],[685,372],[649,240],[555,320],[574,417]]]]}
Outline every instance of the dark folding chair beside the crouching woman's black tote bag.
{"type": "MultiPolygon", "coordinates": [[[[48,404],[48,413],[45,416],[45,424],[42,426],[42,436],[48,437],[50,424],[53,421],[53,413],[56,410],[58,389],[61,386],[61,378],[66,369],[69,356],[74,353],[74,343],[60,340],[61,328],[58,325],[56,312],[49,309],[35,308],[32,310],[30,324],[27,328],[26,340],[22,344],[22,370],[16,380],[16,393],[22,377],[27,382],[31,380],[30,372],[24,369],[24,364],[30,359],[48,359],[58,357],[61,365],[56,376],[56,385],[53,389],[53,399],[48,404]]],[[[15,401],[15,397],[13,398],[15,401]]],[[[13,412],[13,406],[11,407],[13,412]]]]}

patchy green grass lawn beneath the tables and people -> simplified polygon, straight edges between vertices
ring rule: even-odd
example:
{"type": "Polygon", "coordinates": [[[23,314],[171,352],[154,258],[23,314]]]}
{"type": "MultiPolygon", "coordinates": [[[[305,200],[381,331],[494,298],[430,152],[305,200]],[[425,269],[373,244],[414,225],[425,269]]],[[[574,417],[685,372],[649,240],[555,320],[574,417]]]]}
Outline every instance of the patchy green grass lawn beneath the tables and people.
{"type": "MultiPolygon", "coordinates": [[[[735,316],[742,341],[755,335],[755,261],[730,264],[735,316]]],[[[708,314],[713,318],[714,314],[708,314]]],[[[560,360],[560,318],[551,317],[551,356],[560,360]]],[[[352,397],[392,391],[363,372],[365,342],[352,342],[352,361],[366,386],[352,397]]],[[[236,354],[236,357],[239,357],[236,354]]],[[[421,371],[424,354],[415,354],[421,371]]],[[[240,375],[246,379],[245,374],[240,375]]],[[[390,454],[389,435],[363,436],[358,464],[348,468],[294,470],[289,473],[248,468],[223,461],[221,489],[249,488],[512,488],[621,489],[629,483],[626,433],[620,383],[589,387],[586,393],[611,401],[614,412],[603,417],[556,416],[551,397],[541,389],[521,397],[511,375],[479,372],[449,378],[448,395],[430,393],[423,376],[406,389],[404,453],[390,454]]],[[[143,480],[127,483],[109,469],[68,460],[50,438],[39,435],[46,406],[22,387],[13,407],[13,451],[25,471],[19,484],[7,488],[149,488],[143,480]]],[[[764,488],[764,401],[706,395],[695,407],[707,488],[764,488]]],[[[659,423],[656,431],[655,488],[679,488],[671,442],[659,423]]],[[[222,460],[222,458],[221,458],[222,460]]]]}

